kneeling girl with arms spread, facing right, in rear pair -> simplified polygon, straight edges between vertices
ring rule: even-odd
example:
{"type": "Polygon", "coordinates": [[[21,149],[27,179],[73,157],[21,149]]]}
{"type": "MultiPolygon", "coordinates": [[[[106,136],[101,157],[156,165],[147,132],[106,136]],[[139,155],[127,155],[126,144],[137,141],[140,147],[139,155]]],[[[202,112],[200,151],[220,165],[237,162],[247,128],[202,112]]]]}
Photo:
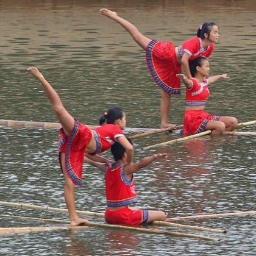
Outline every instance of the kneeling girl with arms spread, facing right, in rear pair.
{"type": "Polygon", "coordinates": [[[186,85],[185,114],[183,119],[184,134],[193,134],[212,130],[213,135],[224,131],[232,131],[238,124],[233,116],[209,115],[204,111],[210,91],[207,85],[219,79],[228,79],[227,74],[208,77],[209,62],[205,57],[199,57],[190,62],[191,79],[184,74],[177,74],[186,85]],[[208,78],[205,78],[208,77],[208,78]]]}

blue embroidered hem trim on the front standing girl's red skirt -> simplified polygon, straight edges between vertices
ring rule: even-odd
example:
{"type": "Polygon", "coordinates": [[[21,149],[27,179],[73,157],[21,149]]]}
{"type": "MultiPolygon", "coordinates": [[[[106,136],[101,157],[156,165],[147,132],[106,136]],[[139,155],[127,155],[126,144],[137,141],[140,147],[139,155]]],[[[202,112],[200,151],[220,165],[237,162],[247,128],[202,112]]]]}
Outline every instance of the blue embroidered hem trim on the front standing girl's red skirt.
{"type": "Polygon", "coordinates": [[[66,171],[68,172],[68,176],[70,177],[70,179],[73,180],[73,182],[76,185],[80,186],[80,185],[82,185],[82,180],[76,177],[76,175],[73,172],[73,169],[72,169],[71,165],[69,165],[69,152],[70,152],[71,145],[72,145],[72,142],[74,140],[74,137],[76,137],[77,132],[79,131],[79,125],[78,124],[79,123],[78,123],[77,119],[74,119],[74,128],[73,128],[73,130],[71,132],[71,135],[69,137],[68,146],[66,147],[65,166],[66,166],[66,171]]]}

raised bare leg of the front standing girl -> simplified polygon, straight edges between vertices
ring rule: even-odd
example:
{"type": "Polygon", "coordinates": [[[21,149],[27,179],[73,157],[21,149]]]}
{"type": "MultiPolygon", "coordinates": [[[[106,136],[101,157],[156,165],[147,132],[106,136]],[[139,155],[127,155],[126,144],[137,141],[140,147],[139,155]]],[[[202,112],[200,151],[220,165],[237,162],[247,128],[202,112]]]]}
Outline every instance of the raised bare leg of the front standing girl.
{"type": "Polygon", "coordinates": [[[29,73],[32,74],[32,76],[34,76],[35,79],[37,79],[41,83],[41,85],[43,85],[44,91],[52,104],[52,108],[54,110],[55,115],[62,124],[62,128],[65,134],[69,135],[74,127],[73,116],[71,116],[68,113],[68,111],[66,111],[65,107],[62,104],[62,101],[60,100],[59,95],[56,93],[54,88],[52,88],[52,86],[48,83],[48,81],[44,79],[43,75],[37,68],[31,66],[27,69],[27,71],[29,71],[29,73]]]}

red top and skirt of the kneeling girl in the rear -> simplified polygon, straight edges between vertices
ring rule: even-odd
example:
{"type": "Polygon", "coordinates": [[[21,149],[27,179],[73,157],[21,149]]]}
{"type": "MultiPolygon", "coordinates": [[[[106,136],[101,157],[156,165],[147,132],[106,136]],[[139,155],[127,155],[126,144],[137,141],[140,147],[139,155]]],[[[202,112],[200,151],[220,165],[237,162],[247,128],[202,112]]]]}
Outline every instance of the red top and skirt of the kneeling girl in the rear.
{"type": "MultiPolygon", "coordinates": [[[[210,96],[208,80],[197,82],[191,79],[193,85],[186,90],[186,106],[204,106],[210,96]]],[[[220,116],[209,115],[204,110],[186,110],[183,119],[183,130],[185,134],[204,132],[208,121],[218,121],[220,116]]]]}

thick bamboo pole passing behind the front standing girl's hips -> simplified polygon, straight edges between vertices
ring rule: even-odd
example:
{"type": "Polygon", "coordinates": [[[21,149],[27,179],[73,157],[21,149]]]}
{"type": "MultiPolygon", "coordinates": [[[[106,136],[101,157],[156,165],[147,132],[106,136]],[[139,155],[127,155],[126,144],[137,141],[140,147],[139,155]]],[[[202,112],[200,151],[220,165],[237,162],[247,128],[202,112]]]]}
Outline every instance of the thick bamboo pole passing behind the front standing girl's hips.
{"type": "MultiPolygon", "coordinates": [[[[0,126],[7,126],[12,128],[41,128],[41,129],[60,129],[62,125],[60,123],[47,123],[47,122],[35,122],[35,121],[17,121],[17,120],[7,120],[0,119],[0,126]]],[[[95,129],[99,126],[88,126],[90,129],[95,129]]],[[[152,132],[158,129],[154,128],[136,128],[136,127],[126,127],[124,129],[126,132],[152,132]]]]}

